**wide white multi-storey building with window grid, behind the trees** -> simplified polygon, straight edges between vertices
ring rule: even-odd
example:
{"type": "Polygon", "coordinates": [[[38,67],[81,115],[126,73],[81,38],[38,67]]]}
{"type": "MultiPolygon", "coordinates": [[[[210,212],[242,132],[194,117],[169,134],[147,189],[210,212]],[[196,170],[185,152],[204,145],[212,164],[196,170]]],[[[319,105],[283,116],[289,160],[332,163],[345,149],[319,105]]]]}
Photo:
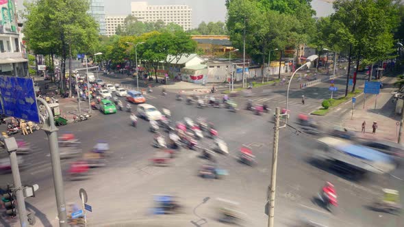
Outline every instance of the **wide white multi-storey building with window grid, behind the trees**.
{"type": "Polygon", "coordinates": [[[192,9],[188,5],[148,5],[146,1],[131,2],[131,14],[144,22],[175,23],[184,30],[192,29],[192,9]]]}

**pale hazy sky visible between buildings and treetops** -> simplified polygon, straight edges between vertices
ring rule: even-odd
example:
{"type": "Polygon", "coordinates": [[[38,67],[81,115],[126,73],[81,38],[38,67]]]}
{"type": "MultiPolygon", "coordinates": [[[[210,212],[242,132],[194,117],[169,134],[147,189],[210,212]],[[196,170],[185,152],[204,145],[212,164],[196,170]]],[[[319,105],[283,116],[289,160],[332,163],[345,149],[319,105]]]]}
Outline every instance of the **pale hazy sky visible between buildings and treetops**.
{"type": "MultiPolygon", "coordinates": [[[[21,10],[23,0],[16,0],[18,10],[21,10]]],[[[129,15],[131,2],[135,0],[104,0],[105,14],[129,15]]],[[[141,1],[141,0],[140,0],[141,1]]],[[[190,5],[192,8],[192,26],[197,27],[201,21],[225,21],[225,0],[144,0],[149,5],[190,5]]],[[[329,1],[329,0],[325,0],[329,1]]],[[[317,16],[327,16],[333,12],[332,4],[320,0],[313,0],[312,7],[317,16]]]]}

